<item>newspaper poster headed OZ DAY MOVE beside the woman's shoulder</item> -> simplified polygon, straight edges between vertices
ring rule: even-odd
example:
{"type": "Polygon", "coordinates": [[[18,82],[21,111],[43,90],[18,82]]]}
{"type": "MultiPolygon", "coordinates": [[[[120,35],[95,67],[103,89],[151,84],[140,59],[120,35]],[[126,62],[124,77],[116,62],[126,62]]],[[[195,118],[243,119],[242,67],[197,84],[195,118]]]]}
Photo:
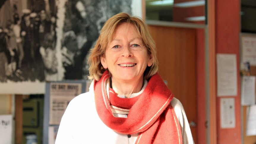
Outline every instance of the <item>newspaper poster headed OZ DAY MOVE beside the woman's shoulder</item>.
{"type": "Polygon", "coordinates": [[[69,102],[82,92],[81,83],[50,84],[50,125],[60,124],[69,102]]]}

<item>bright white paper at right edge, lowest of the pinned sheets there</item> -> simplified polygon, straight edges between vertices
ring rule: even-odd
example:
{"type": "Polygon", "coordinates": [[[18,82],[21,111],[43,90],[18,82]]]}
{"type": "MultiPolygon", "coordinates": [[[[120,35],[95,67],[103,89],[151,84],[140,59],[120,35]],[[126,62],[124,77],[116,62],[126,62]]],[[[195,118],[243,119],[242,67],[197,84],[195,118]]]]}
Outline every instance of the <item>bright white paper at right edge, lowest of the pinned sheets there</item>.
{"type": "Polygon", "coordinates": [[[256,105],[247,107],[246,136],[256,135],[256,105]]]}

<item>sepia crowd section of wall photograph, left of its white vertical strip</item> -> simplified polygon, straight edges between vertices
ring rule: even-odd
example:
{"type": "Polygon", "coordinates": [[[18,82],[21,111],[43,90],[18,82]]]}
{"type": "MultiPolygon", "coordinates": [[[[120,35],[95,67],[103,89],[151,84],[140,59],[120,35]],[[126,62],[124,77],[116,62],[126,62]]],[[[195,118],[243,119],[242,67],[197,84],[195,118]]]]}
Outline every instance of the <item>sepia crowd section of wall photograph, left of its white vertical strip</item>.
{"type": "Polygon", "coordinates": [[[55,1],[4,0],[0,7],[0,81],[42,82],[49,70],[57,73],[47,50],[54,51],[56,44],[55,1]]]}

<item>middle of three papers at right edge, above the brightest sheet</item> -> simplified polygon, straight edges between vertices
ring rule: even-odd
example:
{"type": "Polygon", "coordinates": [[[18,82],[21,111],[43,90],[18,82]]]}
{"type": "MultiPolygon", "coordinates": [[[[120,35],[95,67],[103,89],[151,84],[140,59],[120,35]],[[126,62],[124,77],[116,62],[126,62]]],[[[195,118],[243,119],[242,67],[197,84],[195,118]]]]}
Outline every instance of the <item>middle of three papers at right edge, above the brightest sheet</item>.
{"type": "Polygon", "coordinates": [[[241,84],[241,104],[255,104],[255,76],[243,76],[241,84]]]}

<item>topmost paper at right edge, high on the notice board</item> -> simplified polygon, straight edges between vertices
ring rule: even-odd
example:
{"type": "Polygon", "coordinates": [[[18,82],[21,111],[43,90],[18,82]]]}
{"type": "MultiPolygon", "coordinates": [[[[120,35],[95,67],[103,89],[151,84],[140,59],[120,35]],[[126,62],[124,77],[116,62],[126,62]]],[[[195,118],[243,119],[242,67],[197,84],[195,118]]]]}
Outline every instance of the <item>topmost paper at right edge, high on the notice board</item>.
{"type": "Polygon", "coordinates": [[[256,37],[242,36],[242,62],[256,66],[256,37]]]}

